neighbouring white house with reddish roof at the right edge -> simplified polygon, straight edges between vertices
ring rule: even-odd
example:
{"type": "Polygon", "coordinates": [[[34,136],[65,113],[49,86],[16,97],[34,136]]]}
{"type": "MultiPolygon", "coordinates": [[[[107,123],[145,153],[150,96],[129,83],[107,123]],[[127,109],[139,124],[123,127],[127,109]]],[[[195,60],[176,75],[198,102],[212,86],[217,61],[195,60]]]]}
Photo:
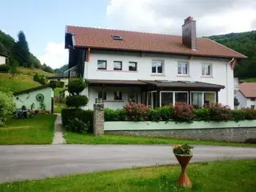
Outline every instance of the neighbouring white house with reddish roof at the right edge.
{"type": "Polygon", "coordinates": [[[256,82],[239,83],[239,90],[235,91],[235,97],[238,99],[237,108],[251,108],[256,106],[256,82]]]}

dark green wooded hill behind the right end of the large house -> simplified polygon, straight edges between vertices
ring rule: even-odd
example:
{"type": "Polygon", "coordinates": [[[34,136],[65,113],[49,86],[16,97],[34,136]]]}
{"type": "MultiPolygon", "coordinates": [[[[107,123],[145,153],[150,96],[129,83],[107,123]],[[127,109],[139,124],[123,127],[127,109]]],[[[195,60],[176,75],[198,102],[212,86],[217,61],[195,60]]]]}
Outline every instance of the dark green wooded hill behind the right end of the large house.
{"type": "Polygon", "coordinates": [[[240,79],[256,78],[256,31],[214,35],[208,38],[248,57],[236,64],[235,77],[240,79]]]}

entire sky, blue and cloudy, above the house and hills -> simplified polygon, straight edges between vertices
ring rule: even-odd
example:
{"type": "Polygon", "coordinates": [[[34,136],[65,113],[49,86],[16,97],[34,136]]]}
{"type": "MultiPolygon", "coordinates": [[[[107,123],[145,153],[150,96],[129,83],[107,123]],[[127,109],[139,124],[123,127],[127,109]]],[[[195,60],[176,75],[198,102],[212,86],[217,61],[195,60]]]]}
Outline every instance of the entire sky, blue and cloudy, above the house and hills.
{"type": "Polygon", "coordinates": [[[31,53],[59,68],[68,62],[65,26],[181,35],[184,19],[197,37],[256,30],[256,0],[0,0],[0,29],[26,34],[31,53]]]}

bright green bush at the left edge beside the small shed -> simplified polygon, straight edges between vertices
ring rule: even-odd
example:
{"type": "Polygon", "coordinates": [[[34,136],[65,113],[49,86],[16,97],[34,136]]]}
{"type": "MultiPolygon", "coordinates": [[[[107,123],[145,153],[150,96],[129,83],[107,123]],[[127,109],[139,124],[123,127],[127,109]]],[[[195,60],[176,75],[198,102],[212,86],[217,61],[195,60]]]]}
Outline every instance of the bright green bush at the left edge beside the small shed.
{"type": "Polygon", "coordinates": [[[9,115],[15,111],[15,102],[10,93],[0,91],[0,126],[3,126],[9,115]]]}

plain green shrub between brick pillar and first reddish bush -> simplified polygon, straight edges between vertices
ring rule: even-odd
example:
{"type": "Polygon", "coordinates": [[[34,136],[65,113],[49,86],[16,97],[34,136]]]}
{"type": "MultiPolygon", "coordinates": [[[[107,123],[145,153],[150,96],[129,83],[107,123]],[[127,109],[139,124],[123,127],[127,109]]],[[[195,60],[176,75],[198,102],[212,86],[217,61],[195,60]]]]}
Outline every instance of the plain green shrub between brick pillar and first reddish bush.
{"type": "Polygon", "coordinates": [[[125,120],[125,117],[125,110],[111,110],[109,108],[105,108],[104,110],[105,121],[125,120]]]}

